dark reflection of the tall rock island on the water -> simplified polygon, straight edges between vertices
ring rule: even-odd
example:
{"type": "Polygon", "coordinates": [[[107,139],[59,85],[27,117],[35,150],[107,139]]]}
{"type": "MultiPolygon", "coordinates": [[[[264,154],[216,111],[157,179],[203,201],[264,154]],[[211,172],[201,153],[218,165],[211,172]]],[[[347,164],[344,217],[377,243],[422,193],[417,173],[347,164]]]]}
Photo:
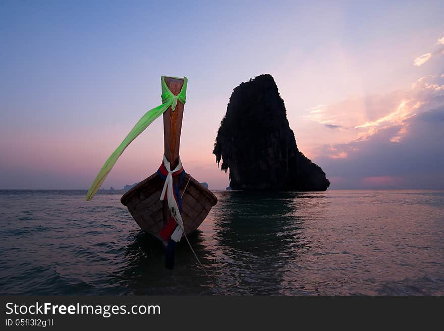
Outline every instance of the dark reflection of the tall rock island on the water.
{"type": "Polygon", "coordinates": [[[229,293],[274,294],[289,262],[304,254],[304,218],[295,193],[221,192],[214,219],[221,279],[229,293]],[[230,206],[227,208],[227,206],[230,206]]]}

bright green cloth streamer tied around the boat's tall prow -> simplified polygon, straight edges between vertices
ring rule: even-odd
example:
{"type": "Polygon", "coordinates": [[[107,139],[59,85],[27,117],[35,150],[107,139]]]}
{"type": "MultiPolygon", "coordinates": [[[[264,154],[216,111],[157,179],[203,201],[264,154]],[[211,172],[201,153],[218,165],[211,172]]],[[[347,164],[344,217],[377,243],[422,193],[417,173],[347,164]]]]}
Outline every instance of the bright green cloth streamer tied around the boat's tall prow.
{"type": "MultiPolygon", "coordinates": [[[[182,79],[178,77],[171,77],[171,78],[177,78],[182,79]]],[[[158,105],[155,108],[150,109],[148,112],[146,112],[145,115],[142,116],[142,118],[139,120],[139,122],[136,123],[134,128],[130,131],[130,133],[125,137],[125,139],[122,141],[122,143],[117,147],[117,149],[114,151],[111,156],[106,160],[105,164],[103,164],[102,169],[98,173],[97,177],[95,178],[94,182],[91,184],[91,187],[89,188],[88,193],[86,194],[86,201],[89,201],[92,199],[94,194],[98,191],[100,186],[102,185],[103,181],[105,180],[106,176],[108,176],[111,169],[113,169],[114,164],[116,163],[117,159],[120,155],[122,155],[125,148],[128,147],[128,145],[136,139],[136,137],[143,132],[151,123],[154,122],[155,119],[157,119],[160,115],[162,115],[164,112],[167,111],[167,109],[171,106],[171,110],[174,112],[177,106],[177,101],[179,100],[183,104],[185,104],[186,99],[186,93],[187,93],[187,77],[184,77],[184,85],[182,86],[182,89],[178,95],[174,95],[173,92],[170,91],[170,89],[167,86],[167,83],[165,83],[165,76],[162,76],[160,81],[162,85],[162,104],[158,105]]]]}

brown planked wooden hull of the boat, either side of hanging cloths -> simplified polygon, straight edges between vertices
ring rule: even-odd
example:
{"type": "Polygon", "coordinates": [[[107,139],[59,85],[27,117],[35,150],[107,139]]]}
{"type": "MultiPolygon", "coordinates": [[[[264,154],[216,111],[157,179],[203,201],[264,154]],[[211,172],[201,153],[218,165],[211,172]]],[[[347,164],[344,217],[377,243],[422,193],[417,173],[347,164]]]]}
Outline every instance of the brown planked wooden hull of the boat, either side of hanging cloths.
{"type": "MultiPolygon", "coordinates": [[[[122,196],[121,202],[128,207],[142,230],[166,244],[159,237],[159,232],[165,226],[166,220],[170,218],[167,201],[159,200],[163,184],[162,178],[154,173],[126,192],[122,196]]],[[[183,194],[181,215],[185,233],[188,235],[202,224],[211,207],[217,203],[217,198],[187,173],[182,180],[179,193],[183,194]]]]}

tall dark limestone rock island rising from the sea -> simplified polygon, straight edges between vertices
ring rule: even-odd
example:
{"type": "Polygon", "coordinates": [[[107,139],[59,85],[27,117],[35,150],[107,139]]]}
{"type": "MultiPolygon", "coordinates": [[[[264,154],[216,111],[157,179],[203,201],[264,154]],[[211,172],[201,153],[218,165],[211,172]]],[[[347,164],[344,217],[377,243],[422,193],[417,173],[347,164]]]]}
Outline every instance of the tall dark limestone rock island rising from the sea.
{"type": "Polygon", "coordinates": [[[290,129],[284,100],[270,75],[233,90],[214,143],[233,190],[325,191],[330,182],[304,156],[290,129]]]}

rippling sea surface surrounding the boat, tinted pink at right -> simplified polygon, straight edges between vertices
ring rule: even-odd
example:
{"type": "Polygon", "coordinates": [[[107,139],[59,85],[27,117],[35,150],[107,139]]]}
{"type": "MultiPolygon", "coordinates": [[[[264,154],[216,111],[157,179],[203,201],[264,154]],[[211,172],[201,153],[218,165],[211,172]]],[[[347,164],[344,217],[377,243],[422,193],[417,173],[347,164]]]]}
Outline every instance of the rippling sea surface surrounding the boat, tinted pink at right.
{"type": "Polygon", "coordinates": [[[165,269],[122,193],[0,191],[0,294],[444,294],[444,191],[215,191],[189,239],[216,286],[185,240],[165,269]]]}

